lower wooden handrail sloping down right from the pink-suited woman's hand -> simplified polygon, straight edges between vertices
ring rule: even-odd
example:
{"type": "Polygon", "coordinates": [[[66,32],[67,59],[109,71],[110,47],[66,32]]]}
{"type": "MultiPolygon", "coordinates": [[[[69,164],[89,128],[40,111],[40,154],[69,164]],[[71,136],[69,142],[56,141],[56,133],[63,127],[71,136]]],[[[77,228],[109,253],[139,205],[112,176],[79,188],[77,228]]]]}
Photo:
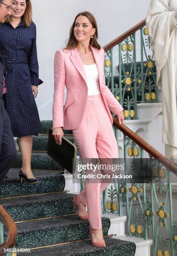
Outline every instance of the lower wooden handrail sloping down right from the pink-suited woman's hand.
{"type": "Polygon", "coordinates": [[[173,164],[172,161],[168,160],[164,155],[162,155],[159,151],[153,148],[149,143],[144,141],[140,136],[130,130],[126,125],[119,124],[116,118],[113,118],[113,125],[119,129],[122,133],[128,136],[132,141],[137,143],[141,148],[143,148],[147,153],[153,156],[155,159],[158,159],[160,163],[162,163],[168,170],[177,175],[177,165],[173,164]]]}

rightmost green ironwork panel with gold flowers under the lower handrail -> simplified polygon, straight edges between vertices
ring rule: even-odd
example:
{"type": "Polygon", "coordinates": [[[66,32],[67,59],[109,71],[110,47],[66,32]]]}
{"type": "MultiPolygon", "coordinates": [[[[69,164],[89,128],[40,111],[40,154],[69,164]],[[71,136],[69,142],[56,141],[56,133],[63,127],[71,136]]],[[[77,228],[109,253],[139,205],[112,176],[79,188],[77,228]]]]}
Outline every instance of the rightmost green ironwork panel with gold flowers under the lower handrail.
{"type": "Polygon", "coordinates": [[[176,255],[173,228],[171,173],[157,159],[150,156],[153,182],[150,184],[152,200],[152,234],[155,255],[176,255]]]}

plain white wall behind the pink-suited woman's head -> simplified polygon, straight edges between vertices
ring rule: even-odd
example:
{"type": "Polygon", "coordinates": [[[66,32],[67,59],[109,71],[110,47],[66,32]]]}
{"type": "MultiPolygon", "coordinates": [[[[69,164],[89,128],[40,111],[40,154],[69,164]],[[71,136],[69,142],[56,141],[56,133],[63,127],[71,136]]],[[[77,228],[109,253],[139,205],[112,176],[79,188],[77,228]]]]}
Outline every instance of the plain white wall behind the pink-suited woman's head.
{"type": "Polygon", "coordinates": [[[40,119],[52,119],[53,59],[65,46],[77,13],[90,11],[97,20],[99,43],[104,46],[145,18],[150,0],[32,0],[37,26],[40,79],[36,102],[40,119]]]}

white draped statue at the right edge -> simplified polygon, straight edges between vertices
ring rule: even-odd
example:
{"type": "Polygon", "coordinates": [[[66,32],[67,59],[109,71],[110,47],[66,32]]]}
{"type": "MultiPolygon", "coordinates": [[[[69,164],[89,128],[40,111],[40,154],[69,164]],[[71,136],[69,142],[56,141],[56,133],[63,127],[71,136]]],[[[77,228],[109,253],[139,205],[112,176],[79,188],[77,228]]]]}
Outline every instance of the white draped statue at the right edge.
{"type": "MultiPolygon", "coordinates": [[[[163,95],[165,155],[177,163],[177,0],[151,0],[146,19],[163,95]]],[[[157,127],[158,130],[158,127],[157,127]]]]}

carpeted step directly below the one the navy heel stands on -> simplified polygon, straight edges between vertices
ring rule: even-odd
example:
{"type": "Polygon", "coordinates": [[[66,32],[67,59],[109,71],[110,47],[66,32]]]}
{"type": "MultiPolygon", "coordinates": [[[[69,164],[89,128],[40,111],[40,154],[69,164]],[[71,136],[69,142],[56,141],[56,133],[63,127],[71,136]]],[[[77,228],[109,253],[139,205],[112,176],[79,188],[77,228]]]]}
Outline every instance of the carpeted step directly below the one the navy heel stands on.
{"type": "MultiPolygon", "coordinates": [[[[14,221],[34,220],[72,214],[74,196],[63,192],[5,199],[0,200],[0,203],[14,221]]],[[[77,212],[76,207],[75,212],[77,212]]]]}

